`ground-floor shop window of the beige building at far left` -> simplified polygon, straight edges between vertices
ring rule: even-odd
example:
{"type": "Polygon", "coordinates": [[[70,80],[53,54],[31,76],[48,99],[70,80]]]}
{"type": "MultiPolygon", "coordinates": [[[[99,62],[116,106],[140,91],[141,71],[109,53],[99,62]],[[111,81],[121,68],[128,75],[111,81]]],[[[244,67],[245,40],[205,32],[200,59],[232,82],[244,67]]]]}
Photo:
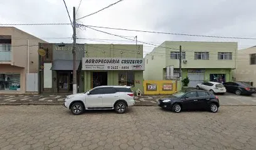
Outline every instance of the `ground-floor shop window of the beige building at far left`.
{"type": "Polygon", "coordinates": [[[0,74],[0,90],[20,91],[20,74],[17,73],[1,73],[0,74]]]}

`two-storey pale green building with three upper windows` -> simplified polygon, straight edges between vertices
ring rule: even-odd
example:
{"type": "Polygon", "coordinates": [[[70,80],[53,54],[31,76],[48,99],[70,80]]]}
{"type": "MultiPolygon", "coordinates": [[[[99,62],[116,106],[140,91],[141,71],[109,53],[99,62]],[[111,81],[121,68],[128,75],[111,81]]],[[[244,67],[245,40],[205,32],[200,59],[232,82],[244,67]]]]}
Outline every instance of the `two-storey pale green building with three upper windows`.
{"type": "Polygon", "coordinates": [[[237,59],[237,42],[165,41],[145,57],[145,80],[177,79],[179,77],[179,46],[182,49],[182,78],[189,86],[203,81],[232,80],[237,59]],[[167,71],[168,68],[173,71],[167,71]]]}

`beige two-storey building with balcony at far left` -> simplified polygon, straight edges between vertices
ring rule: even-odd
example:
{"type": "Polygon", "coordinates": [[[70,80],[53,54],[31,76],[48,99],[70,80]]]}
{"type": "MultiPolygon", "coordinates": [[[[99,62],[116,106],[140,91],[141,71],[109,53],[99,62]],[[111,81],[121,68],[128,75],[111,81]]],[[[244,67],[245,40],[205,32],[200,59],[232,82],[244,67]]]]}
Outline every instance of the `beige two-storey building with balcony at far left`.
{"type": "Polygon", "coordinates": [[[38,42],[45,41],[16,27],[0,27],[0,94],[37,91],[38,42]]]}

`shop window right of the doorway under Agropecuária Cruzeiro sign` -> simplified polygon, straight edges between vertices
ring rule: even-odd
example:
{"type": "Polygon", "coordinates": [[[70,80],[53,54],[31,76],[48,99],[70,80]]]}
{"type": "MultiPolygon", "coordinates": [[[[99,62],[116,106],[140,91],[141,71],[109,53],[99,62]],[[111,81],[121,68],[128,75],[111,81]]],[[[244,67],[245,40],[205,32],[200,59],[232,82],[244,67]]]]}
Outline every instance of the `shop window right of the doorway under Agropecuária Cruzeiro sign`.
{"type": "Polygon", "coordinates": [[[134,71],[120,71],[119,86],[134,86],[134,71]]]}

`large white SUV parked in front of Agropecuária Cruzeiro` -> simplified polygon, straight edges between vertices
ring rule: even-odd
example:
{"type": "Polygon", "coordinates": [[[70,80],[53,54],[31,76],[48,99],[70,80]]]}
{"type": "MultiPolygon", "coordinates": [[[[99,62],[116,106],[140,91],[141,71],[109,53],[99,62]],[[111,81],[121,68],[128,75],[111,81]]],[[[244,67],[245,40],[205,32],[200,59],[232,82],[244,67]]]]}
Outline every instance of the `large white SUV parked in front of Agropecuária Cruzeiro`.
{"type": "Polygon", "coordinates": [[[122,114],[134,104],[134,93],[130,86],[98,86],[87,93],[69,95],[64,103],[76,115],[90,109],[115,109],[122,114]]]}

